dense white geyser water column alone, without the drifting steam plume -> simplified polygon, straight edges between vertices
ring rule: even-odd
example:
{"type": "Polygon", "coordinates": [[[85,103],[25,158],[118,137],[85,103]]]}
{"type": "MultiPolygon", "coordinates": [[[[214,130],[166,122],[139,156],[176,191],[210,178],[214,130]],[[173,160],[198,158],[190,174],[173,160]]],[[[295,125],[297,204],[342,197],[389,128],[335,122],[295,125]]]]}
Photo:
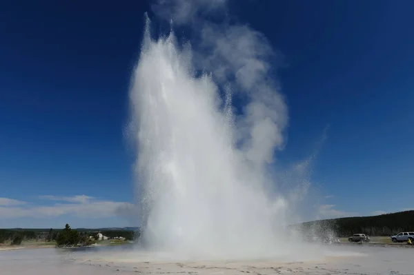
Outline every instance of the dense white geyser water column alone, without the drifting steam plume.
{"type": "Polygon", "coordinates": [[[148,248],[204,258],[286,253],[286,201],[269,198],[264,165],[236,147],[244,131],[230,91],[221,97],[211,74],[196,77],[190,47],[172,32],[152,40],[149,20],[130,100],[148,248]]]}

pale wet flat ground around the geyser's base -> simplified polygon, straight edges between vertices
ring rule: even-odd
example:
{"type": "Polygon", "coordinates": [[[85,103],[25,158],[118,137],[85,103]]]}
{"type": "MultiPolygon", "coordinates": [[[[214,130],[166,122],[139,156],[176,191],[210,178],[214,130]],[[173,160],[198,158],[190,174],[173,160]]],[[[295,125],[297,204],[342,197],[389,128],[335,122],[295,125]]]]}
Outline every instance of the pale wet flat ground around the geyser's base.
{"type": "Polygon", "coordinates": [[[0,251],[0,274],[389,274],[414,275],[414,249],[327,246],[309,261],[256,259],[190,261],[155,259],[130,247],[94,249],[18,249],[0,251]]]}

